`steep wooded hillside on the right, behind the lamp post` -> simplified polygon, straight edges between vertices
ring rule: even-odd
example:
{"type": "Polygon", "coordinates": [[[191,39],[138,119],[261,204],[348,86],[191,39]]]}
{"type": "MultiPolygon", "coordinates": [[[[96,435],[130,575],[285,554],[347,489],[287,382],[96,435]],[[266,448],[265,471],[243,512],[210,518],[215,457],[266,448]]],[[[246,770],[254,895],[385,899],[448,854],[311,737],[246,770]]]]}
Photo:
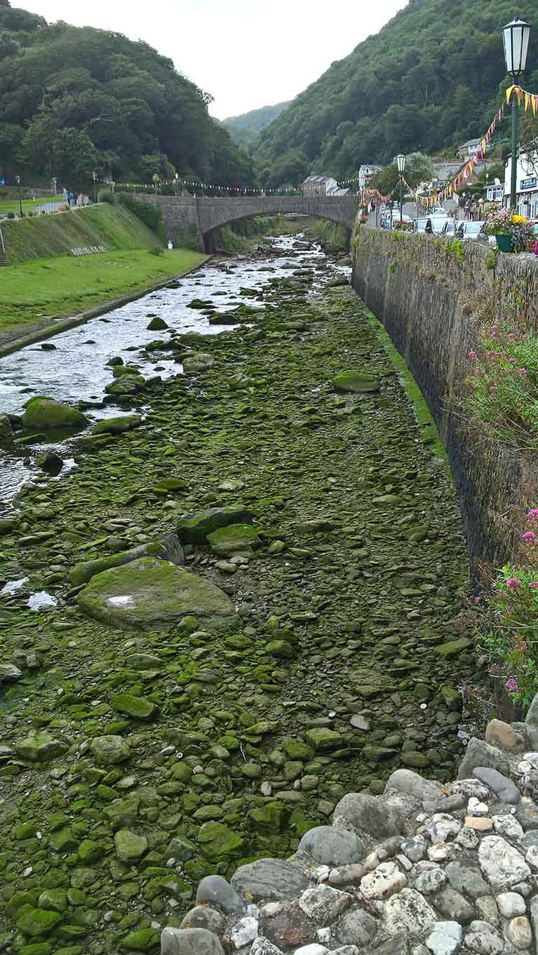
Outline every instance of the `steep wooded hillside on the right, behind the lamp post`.
{"type": "Polygon", "coordinates": [[[537,11],[536,0],[410,0],[263,130],[259,167],[279,159],[285,178],[302,159],[344,178],[362,162],[482,135],[505,79],[500,31],[514,16],[534,26],[527,88],[538,90],[537,11]]]}

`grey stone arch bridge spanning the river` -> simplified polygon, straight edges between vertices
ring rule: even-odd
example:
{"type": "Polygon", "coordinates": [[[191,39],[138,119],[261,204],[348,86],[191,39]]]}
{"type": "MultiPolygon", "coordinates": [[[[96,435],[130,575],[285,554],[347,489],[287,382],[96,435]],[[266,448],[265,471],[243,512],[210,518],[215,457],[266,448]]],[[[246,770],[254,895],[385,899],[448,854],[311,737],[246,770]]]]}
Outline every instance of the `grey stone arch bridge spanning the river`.
{"type": "Polygon", "coordinates": [[[158,205],[162,210],[169,239],[211,250],[212,232],[219,225],[235,223],[250,216],[274,216],[294,212],[328,219],[352,230],[361,201],[358,196],[244,196],[237,199],[195,196],[151,196],[139,193],[138,201],[158,205]]]}

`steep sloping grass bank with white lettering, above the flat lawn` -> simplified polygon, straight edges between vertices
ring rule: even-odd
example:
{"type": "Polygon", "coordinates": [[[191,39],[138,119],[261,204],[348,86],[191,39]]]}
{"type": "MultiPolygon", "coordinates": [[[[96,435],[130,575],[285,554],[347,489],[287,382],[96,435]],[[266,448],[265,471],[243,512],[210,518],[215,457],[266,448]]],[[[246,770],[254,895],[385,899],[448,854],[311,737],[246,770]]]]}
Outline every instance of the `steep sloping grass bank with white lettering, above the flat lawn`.
{"type": "Polygon", "coordinates": [[[107,251],[113,251],[161,244],[124,205],[108,203],[4,222],[2,233],[11,265],[65,256],[72,248],[92,245],[104,245],[107,251]]]}

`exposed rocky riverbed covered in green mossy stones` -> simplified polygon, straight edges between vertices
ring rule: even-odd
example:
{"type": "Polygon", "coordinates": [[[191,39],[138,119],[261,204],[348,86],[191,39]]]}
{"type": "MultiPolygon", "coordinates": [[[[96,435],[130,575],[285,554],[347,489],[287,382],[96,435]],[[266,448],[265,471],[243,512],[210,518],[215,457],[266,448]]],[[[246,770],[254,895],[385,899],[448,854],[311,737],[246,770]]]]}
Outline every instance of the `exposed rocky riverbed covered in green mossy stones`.
{"type": "Polygon", "coordinates": [[[455,775],[451,478],[360,300],[291,265],[236,328],[121,351],[113,423],[0,521],[7,951],[157,951],[202,878],[290,855],[347,792],[455,775]]]}

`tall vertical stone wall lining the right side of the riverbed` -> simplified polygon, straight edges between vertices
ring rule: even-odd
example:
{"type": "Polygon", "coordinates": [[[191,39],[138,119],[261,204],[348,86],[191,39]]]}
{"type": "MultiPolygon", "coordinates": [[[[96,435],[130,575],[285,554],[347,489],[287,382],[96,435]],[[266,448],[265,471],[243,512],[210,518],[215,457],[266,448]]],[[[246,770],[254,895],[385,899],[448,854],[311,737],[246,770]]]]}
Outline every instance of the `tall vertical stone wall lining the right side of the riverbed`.
{"type": "Polygon", "coordinates": [[[481,329],[507,308],[537,327],[538,260],[365,227],[353,244],[353,285],[403,354],[445,441],[471,565],[517,557],[521,508],[538,498],[536,465],[486,441],[456,401],[481,329]]]}

